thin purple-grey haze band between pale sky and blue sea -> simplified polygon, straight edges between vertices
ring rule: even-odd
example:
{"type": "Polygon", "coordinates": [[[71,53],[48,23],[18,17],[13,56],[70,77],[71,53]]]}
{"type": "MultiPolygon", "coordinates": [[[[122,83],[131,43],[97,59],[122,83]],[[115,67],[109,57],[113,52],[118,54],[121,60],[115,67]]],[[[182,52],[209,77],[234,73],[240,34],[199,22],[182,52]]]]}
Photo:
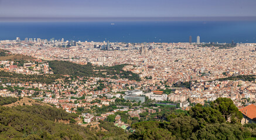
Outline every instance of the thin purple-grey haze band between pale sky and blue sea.
{"type": "Polygon", "coordinates": [[[0,17],[0,22],[256,21],[256,16],[194,17],[0,17]]]}

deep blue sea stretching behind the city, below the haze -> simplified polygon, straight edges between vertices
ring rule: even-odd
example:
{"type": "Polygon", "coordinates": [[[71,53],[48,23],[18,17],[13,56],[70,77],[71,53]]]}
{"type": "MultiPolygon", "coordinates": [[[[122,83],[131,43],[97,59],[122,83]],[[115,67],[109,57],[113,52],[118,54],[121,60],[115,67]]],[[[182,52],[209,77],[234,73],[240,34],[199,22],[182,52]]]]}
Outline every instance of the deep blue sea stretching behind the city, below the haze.
{"type": "Polygon", "coordinates": [[[256,21],[230,22],[0,22],[0,40],[16,37],[111,42],[256,43],[256,21]]]}

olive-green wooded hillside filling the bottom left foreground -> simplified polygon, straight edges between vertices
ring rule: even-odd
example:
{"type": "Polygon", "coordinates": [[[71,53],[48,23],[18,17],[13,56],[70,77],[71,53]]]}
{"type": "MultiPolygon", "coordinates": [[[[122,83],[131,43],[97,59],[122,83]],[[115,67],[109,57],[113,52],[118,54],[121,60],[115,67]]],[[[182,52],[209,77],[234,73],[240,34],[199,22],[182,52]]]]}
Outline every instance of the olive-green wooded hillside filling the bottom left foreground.
{"type": "MultiPolygon", "coordinates": [[[[5,100],[5,99],[3,99],[5,100]]],[[[9,103],[15,101],[9,97],[9,103]]],[[[7,102],[5,102],[6,104],[7,102]]],[[[81,127],[74,118],[78,115],[67,113],[49,106],[0,106],[0,139],[127,139],[128,134],[110,122],[102,122],[103,131],[81,127]],[[70,121],[70,124],[56,122],[70,121]]]]}

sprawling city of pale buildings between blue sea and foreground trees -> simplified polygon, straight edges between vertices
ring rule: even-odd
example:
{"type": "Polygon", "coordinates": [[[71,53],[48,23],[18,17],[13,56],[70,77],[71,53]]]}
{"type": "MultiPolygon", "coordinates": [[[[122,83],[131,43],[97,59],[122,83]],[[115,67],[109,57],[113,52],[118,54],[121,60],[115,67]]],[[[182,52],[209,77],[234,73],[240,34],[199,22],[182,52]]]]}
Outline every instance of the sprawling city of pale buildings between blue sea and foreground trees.
{"type": "Polygon", "coordinates": [[[256,117],[250,116],[256,108],[253,43],[200,43],[199,36],[197,43],[17,37],[0,41],[0,48],[2,97],[51,104],[78,114],[83,127],[98,129],[108,121],[134,132],[136,122],[218,98],[233,101],[244,114],[242,124],[256,117]]]}

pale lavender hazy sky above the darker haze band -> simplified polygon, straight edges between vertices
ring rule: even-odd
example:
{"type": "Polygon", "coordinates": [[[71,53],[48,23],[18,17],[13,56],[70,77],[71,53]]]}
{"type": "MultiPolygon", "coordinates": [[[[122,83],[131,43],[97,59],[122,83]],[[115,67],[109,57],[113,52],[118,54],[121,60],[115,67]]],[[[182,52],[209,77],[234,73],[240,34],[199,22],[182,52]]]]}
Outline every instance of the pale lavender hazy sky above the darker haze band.
{"type": "Polygon", "coordinates": [[[256,16],[256,0],[0,0],[0,17],[256,16]]]}

